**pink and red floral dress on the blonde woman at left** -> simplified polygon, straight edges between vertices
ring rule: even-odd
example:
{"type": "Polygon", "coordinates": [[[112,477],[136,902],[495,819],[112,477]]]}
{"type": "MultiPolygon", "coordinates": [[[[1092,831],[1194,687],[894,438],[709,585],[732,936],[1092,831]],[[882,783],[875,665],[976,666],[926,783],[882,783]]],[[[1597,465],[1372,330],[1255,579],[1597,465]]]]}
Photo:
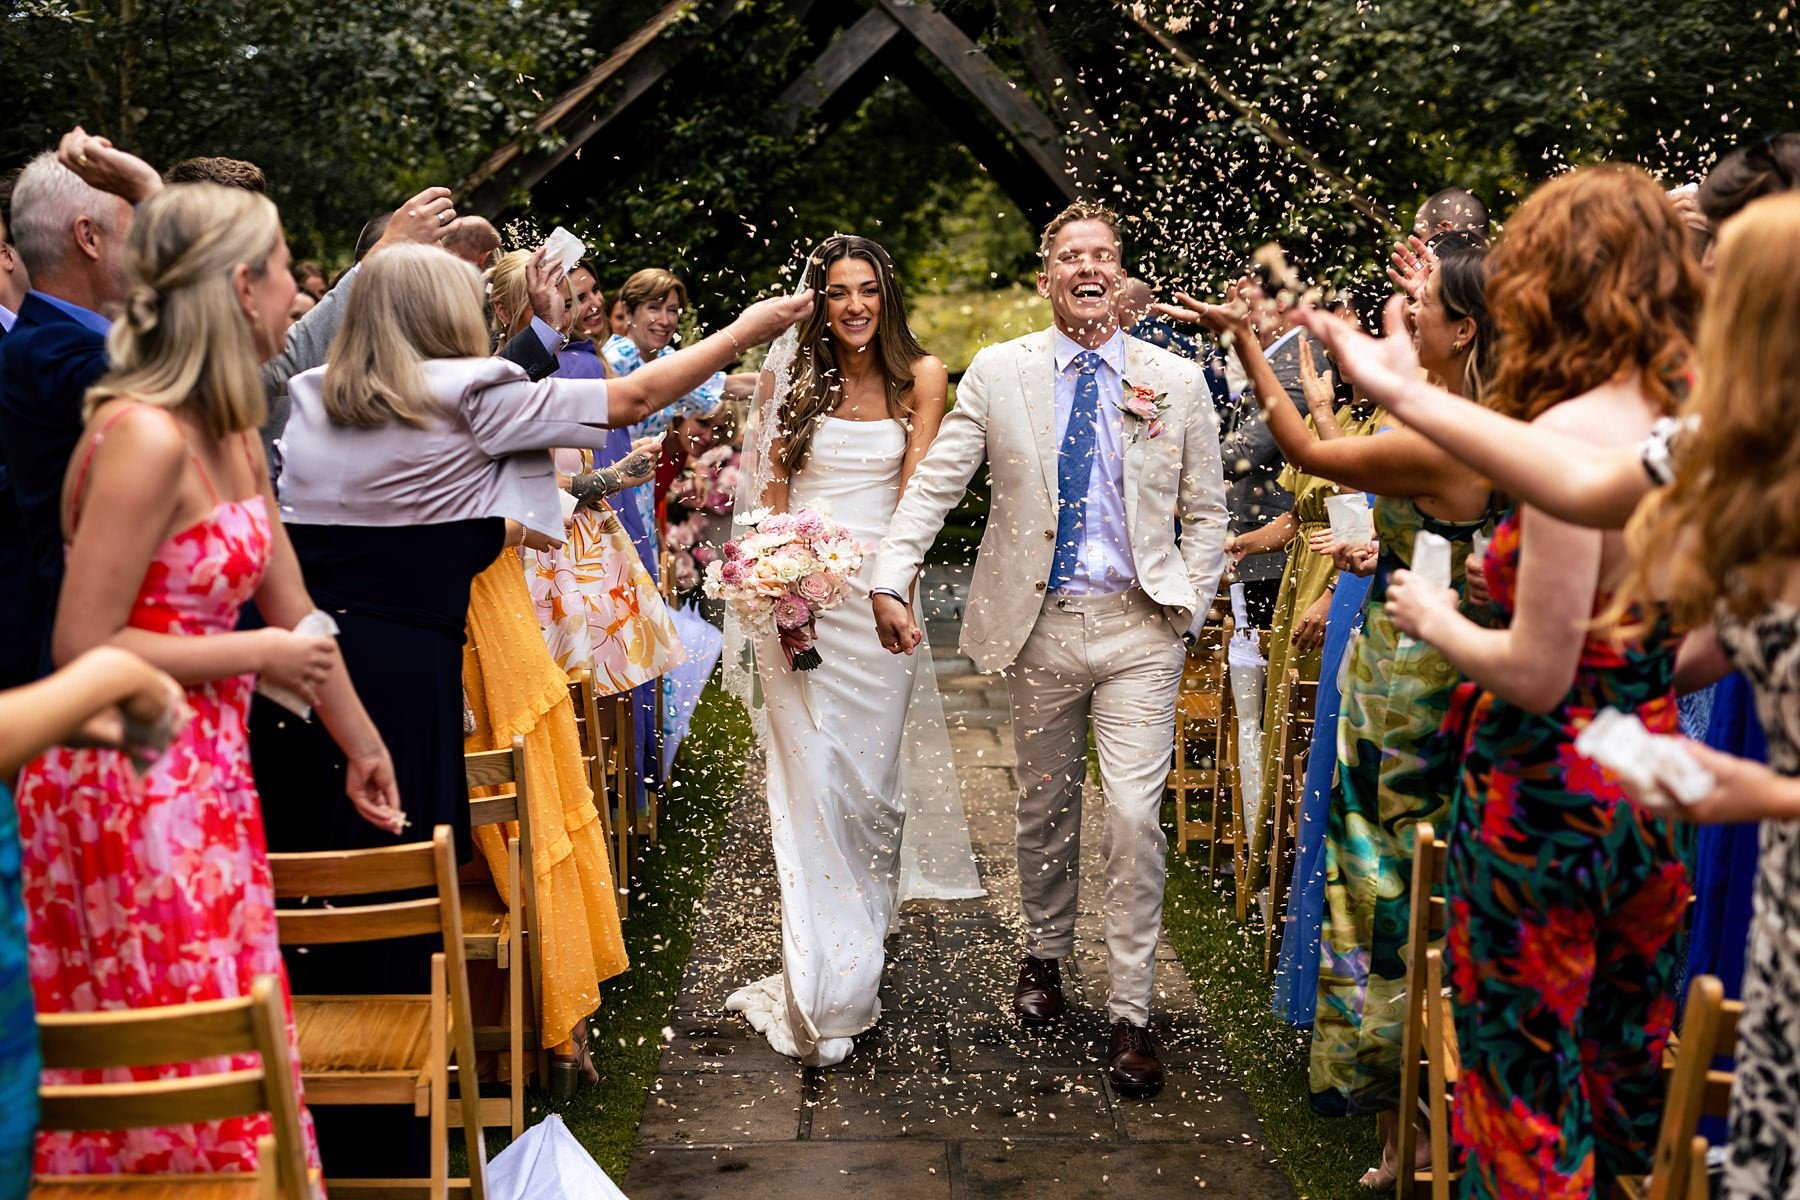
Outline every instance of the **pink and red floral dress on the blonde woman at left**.
{"type": "MultiPolygon", "coordinates": [[[[157,547],[130,624],[182,637],[232,631],[238,608],[263,579],[270,545],[261,497],[220,502],[202,522],[157,547]]],[[[279,977],[286,993],[245,729],[254,687],[250,675],[191,685],[193,720],[148,770],[137,770],[119,750],[67,747],[25,766],[18,824],[31,914],[31,984],[40,1013],[234,999],[248,995],[257,975],[279,977]]],[[[288,1040],[297,1083],[292,1013],[288,1040]]],[[[88,1081],[171,1079],[252,1067],[256,1056],[248,1054],[81,1074],[88,1081]]],[[[45,1079],[70,1074],[45,1072],[45,1079]]],[[[304,1105],[301,1121],[308,1160],[317,1166],[304,1105]]],[[[41,1175],[254,1171],[256,1139],[268,1133],[266,1115],[40,1133],[34,1169],[41,1175]]]]}

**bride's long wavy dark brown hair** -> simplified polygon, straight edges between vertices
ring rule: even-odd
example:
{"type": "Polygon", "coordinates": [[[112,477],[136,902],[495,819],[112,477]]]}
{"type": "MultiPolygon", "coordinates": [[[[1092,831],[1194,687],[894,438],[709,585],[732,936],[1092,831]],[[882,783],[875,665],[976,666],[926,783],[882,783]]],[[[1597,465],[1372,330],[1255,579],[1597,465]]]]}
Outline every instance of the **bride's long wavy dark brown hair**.
{"type": "Polygon", "coordinates": [[[844,259],[862,259],[875,268],[875,281],[882,293],[882,311],[877,318],[873,344],[875,369],[886,380],[887,416],[902,423],[913,416],[913,363],[925,356],[925,347],[905,318],[905,297],[900,293],[893,263],[887,259],[887,252],[868,237],[855,234],[826,237],[806,261],[812,315],[799,329],[794,383],[781,405],[778,425],[781,437],[778,459],[788,477],[806,464],[819,419],[842,399],[841,396],[833,398],[833,389],[842,376],[837,367],[837,344],[826,326],[824,293],[832,266],[844,259]]]}

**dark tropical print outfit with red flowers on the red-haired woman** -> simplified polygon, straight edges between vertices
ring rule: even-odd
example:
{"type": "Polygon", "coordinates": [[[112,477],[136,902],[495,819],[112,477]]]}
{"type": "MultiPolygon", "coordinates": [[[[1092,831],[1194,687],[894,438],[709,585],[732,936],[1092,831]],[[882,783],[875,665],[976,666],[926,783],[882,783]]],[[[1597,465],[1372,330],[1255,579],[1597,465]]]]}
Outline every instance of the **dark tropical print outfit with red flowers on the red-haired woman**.
{"type": "MultiPolygon", "coordinates": [[[[1508,617],[1517,561],[1514,515],[1487,556],[1508,617]]],[[[1642,640],[1589,633],[1552,712],[1469,684],[1445,721],[1463,752],[1447,880],[1463,1196],[1609,1196],[1620,1175],[1649,1171],[1687,871],[1667,822],[1575,736],[1607,707],[1676,732],[1674,648],[1667,617],[1642,640]]]]}

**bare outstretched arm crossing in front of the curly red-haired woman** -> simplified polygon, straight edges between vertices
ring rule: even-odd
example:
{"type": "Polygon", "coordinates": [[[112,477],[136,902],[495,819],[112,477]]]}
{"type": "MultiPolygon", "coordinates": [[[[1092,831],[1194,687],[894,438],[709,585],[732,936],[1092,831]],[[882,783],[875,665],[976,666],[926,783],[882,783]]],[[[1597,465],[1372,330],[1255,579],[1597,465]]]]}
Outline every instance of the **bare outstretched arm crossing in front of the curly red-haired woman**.
{"type": "Polygon", "coordinates": [[[1575,525],[1618,529],[1631,518],[1638,500],[1652,488],[1636,450],[1597,448],[1544,425],[1517,421],[1451,396],[1417,374],[1395,371],[1386,342],[1395,340],[1402,311],[1399,299],[1390,300],[1390,333],[1384,340],[1318,309],[1303,309],[1296,320],[1325,342],[1332,358],[1364,394],[1409,430],[1490,479],[1501,491],[1575,525]]]}

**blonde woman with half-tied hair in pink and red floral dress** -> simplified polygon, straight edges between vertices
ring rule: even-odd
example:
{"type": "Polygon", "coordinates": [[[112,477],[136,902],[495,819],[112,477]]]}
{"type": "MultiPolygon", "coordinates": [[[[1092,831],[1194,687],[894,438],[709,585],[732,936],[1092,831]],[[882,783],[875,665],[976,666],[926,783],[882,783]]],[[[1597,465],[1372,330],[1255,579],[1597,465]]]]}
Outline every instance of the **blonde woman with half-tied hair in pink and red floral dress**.
{"type": "MultiPolygon", "coordinates": [[[[364,820],[400,829],[387,747],[337,642],[292,631],[313,601],[257,437],[257,367],[283,345],[295,290],[275,205],[209,184],[166,189],[139,209],[128,270],[130,300],[106,347],[113,369],[88,392],[63,489],[68,570],[54,655],[65,664],[103,644],[130,649],[185,685],[193,720],[142,770],[121,750],[54,748],[20,775],[40,1013],[243,997],[257,975],[283,975],[245,729],[257,678],[319,711],[347,765],[338,788],[364,820]],[[238,631],[250,599],[268,628],[238,631]]],[[[292,1047],[292,1025],[288,1036],[292,1047]]],[[[47,1133],[36,1171],[250,1171],[268,1128],[257,1115],[47,1133]]]]}

